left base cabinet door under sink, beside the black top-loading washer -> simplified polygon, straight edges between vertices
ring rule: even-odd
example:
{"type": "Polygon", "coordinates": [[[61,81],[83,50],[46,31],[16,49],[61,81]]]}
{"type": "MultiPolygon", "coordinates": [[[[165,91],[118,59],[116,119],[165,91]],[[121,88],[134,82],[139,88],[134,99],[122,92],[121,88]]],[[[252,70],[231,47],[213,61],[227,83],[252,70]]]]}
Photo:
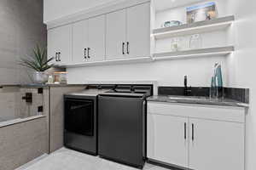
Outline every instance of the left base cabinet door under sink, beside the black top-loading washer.
{"type": "Polygon", "coordinates": [[[188,167],[188,118],[148,114],[149,159],[188,167]]]}

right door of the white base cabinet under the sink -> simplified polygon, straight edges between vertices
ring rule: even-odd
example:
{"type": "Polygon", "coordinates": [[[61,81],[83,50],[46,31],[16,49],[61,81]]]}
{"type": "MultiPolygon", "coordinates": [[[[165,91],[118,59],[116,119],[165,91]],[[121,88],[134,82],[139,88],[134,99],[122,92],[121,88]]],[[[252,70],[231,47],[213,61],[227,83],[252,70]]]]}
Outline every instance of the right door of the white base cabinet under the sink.
{"type": "Polygon", "coordinates": [[[189,168],[243,170],[244,124],[189,118],[189,168]]]}

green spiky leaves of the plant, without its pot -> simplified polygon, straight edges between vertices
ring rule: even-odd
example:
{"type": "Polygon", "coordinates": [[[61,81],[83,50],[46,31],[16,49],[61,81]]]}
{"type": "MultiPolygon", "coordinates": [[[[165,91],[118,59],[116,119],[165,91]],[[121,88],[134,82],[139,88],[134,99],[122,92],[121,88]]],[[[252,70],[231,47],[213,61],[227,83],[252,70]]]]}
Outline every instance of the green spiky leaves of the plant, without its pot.
{"type": "Polygon", "coordinates": [[[49,62],[54,59],[47,59],[46,48],[40,48],[39,45],[33,49],[33,54],[27,56],[27,58],[20,59],[20,65],[30,68],[34,71],[44,72],[53,67],[53,64],[49,65],[49,62]]]}

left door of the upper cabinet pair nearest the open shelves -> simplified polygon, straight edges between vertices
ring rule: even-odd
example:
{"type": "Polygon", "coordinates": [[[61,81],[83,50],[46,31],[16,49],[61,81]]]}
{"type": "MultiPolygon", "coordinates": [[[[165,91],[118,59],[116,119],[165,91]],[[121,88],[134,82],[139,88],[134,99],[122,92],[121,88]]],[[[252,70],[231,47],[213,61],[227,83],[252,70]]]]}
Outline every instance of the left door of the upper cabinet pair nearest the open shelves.
{"type": "Polygon", "coordinates": [[[125,58],[126,9],[106,15],[106,59],[125,58]]]}

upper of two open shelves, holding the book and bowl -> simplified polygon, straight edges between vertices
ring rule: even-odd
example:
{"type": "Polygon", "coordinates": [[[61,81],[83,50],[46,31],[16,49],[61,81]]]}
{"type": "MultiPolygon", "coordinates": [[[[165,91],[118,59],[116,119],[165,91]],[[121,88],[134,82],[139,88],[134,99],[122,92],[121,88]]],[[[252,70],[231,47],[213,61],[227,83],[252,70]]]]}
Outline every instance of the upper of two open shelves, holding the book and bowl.
{"type": "Polygon", "coordinates": [[[153,30],[153,36],[155,39],[160,39],[166,37],[180,37],[202,32],[224,30],[225,28],[229,27],[234,20],[235,17],[231,15],[218,19],[199,21],[193,24],[184,24],[182,26],[159,28],[153,30]]]}

